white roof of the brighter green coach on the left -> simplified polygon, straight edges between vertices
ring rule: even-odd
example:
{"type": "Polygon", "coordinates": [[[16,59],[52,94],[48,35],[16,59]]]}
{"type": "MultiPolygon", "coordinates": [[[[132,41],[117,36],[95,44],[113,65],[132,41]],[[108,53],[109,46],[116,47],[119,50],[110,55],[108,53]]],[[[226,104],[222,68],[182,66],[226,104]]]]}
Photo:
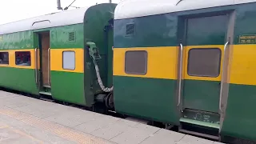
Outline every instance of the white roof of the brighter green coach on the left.
{"type": "Polygon", "coordinates": [[[67,26],[82,23],[88,7],[60,11],[57,13],[41,15],[34,18],[23,19],[0,25],[0,34],[10,34],[19,31],[37,30],[55,26],[67,26]]]}

